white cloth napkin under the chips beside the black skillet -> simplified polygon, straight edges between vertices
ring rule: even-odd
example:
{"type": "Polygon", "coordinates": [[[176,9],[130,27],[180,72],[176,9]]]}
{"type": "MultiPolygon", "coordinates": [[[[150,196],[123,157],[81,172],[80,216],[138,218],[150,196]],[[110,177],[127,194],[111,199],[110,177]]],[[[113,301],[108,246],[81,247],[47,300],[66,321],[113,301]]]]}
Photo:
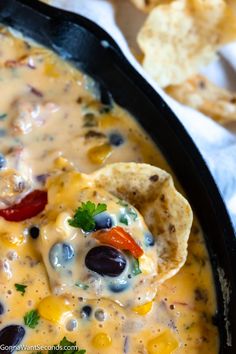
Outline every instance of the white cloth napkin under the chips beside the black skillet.
{"type": "MultiPolygon", "coordinates": [[[[103,27],[119,44],[132,65],[165,99],[206,160],[236,227],[236,124],[220,126],[203,114],[165,94],[144,72],[129,47],[137,48],[137,31],[145,15],[129,0],[51,0],[56,7],[79,13],[103,27]]],[[[236,91],[236,43],[220,50],[218,59],[202,71],[220,86],[236,91]]]]}

